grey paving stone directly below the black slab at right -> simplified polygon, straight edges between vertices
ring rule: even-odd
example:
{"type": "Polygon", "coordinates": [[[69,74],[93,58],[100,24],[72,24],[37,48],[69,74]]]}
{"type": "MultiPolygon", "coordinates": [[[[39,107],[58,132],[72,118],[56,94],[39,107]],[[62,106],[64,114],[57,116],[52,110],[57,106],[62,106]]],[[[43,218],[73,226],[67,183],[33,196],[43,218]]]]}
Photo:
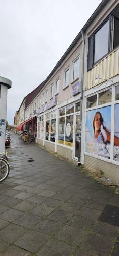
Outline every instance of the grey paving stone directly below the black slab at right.
{"type": "Polygon", "coordinates": [[[97,221],[90,229],[91,232],[97,233],[102,237],[109,239],[116,239],[119,229],[115,226],[109,225],[107,223],[97,221]]]}

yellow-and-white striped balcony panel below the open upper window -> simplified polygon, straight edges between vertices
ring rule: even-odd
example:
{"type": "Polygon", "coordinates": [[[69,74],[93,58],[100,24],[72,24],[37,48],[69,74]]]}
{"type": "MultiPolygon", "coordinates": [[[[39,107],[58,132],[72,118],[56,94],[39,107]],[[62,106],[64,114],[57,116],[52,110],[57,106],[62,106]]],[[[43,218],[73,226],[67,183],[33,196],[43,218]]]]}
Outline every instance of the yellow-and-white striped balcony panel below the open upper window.
{"type": "Polygon", "coordinates": [[[102,79],[110,79],[119,74],[119,47],[99,61],[94,67],[87,72],[86,87],[88,90],[102,83],[102,79]]]}

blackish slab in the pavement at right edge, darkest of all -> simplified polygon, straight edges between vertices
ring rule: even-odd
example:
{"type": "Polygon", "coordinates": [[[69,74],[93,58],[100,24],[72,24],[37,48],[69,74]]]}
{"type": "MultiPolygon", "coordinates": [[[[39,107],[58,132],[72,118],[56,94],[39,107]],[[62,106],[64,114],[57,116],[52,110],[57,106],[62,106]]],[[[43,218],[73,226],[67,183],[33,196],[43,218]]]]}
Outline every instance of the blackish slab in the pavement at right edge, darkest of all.
{"type": "Polygon", "coordinates": [[[119,207],[107,204],[98,220],[119,227],[119,207]]]}

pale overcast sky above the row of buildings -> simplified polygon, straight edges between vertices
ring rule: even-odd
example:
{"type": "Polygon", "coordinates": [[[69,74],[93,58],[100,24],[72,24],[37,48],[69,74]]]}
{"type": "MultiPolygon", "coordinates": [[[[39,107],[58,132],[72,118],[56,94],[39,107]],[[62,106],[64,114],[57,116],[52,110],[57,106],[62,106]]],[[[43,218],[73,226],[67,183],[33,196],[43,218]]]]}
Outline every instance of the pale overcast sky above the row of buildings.
{"type": "Polygon", "coordinates": [[[52,71],[100,0],[0,0],[0,76],[12,81],[7,120],[52,71]]]}

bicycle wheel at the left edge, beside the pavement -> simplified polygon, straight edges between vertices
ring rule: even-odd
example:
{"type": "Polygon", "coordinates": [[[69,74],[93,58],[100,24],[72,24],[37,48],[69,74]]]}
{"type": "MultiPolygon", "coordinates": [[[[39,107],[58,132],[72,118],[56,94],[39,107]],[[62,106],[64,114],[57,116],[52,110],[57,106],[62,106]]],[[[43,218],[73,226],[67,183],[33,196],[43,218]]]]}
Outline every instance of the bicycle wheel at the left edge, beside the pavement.
{"type": "Polygon", "coordinates": [[[1,158],[0,159],[0,182],[5,180],[10,172],[10,166],[9,163],[1,158]]]}

